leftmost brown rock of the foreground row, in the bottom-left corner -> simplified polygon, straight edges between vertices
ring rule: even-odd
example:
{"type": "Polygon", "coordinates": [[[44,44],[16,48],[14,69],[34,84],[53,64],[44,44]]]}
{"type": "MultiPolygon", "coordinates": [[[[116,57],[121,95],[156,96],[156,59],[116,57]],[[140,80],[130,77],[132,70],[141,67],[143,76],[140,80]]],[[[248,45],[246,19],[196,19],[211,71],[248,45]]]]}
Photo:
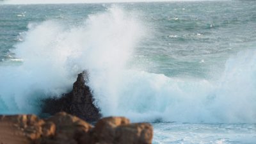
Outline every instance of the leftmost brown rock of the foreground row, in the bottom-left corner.
{"type": "Polygon", "coordinates": [[[42,125],[35,115],[14,115],[0,117],[0,143],[33,143],[42,135],[42,125]]]}

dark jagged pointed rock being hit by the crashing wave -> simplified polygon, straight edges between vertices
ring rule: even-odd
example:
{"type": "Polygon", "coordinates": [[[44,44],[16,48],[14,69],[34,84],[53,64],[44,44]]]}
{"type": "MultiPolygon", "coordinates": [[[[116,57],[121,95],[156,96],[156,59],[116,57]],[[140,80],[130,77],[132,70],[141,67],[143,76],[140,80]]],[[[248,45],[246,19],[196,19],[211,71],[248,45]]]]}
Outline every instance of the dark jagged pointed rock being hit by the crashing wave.
{"type": "Polygon", "coordinates": [[[89,86],[87,72],[78,75],[70,93],[63,94],[60,98],[49,98],[43,100],[42,113],[54,115],[65,111],[88,122],[99,120],[99,109],[93,104],[93,96],[89,86]]]}

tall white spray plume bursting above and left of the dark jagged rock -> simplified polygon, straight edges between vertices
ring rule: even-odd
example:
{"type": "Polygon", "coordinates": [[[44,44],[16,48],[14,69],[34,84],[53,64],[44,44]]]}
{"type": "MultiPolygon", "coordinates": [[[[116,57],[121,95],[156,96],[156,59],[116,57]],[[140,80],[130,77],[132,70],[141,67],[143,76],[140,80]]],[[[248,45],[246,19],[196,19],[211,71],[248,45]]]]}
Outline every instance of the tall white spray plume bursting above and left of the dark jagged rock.
{"type": "Polygon", "coordinates": [[[58,20],[29,24],[24,42],[13,51],[22,65],[0,69],[1,105],[7,107],[0,113],[38,113],[40,99],[71,90],[84,69],[118,75],[145,31],[133,14],[113,5],[80,26],[58,20]]]}

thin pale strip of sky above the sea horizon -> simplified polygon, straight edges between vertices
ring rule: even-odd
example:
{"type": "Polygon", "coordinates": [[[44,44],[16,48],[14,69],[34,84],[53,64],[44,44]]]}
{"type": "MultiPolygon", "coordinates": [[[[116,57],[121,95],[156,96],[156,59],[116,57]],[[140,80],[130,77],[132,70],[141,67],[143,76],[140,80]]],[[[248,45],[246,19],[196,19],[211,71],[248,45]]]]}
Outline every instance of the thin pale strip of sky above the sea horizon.
{"type": "MultiPolygon", "coordinates": [[[[46,3],[111,3],[150,1],[195,1],[195,0],[0,0],[0,4],[46,4],[46,3]]],[[[209,0],[208,0],[209,1],[209,0]]]]}

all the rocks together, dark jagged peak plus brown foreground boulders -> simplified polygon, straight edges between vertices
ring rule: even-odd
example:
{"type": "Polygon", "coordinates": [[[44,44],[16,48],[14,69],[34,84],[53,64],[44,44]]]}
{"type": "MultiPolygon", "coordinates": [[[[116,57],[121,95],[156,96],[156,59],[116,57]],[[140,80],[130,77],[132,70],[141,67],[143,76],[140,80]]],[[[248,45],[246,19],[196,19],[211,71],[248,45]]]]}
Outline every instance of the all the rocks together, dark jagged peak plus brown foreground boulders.
{"type": "Polygon", "coordinates": [[[84,71],[77,76],[70,93],[42,100],[39,117],[0,115],[0,144],[152,143],[153,128],[150,124],[131,124],[124,117],[100,119],[100,110],[93,104],[86,81],[88,74],[84,71]],[[49,116],[40,118],[45,114],[49,116]],[[93,127],[88,122],[96,123],[93,127]]]}

